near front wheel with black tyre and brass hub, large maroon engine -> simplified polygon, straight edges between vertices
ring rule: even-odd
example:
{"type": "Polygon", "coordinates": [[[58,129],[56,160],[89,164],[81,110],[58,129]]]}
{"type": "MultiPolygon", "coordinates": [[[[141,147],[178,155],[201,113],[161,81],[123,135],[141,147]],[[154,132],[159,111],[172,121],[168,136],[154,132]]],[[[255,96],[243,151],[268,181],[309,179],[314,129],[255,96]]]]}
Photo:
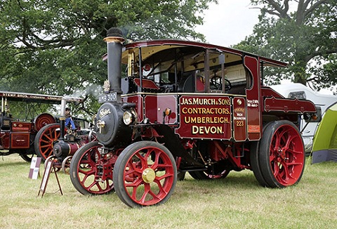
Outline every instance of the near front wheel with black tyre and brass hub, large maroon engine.
{"type": "Polygon", "coordinates": [[[129,145],[114,166],[114,189],[129,207],[166,202],[177,182],[176,163],[164,145],[140,141],[129,145]]]}

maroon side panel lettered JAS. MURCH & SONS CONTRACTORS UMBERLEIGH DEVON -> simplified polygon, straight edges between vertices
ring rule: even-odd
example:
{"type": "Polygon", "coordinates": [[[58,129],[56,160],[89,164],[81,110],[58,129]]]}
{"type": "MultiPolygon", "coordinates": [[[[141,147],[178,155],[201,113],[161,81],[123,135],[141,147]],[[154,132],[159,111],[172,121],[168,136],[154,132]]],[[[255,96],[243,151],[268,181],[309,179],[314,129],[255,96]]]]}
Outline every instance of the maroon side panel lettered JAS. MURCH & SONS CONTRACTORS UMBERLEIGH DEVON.
{"type": "Polygon", "coordinates": [[[180,127],[176,129],[188,138],[231,138],[231,100],[217,96],[181,96],[180,127]]]}

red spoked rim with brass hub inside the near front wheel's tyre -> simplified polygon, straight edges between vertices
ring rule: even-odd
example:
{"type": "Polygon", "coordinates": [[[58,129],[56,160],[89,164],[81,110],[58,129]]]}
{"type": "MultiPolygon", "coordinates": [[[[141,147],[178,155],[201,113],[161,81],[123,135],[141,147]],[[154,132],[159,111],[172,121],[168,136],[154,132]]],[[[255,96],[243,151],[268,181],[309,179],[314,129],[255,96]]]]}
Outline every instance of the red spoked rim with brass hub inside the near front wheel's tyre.
{"type": "Polygon", "coordinates": [[[156,147],[136,150],[124,166],[123,176],[128,197],[143,206],[161,202],[175,183],[169,156],[156,147]],[[143,174],[150,175],[144,178],[143,174]]]}

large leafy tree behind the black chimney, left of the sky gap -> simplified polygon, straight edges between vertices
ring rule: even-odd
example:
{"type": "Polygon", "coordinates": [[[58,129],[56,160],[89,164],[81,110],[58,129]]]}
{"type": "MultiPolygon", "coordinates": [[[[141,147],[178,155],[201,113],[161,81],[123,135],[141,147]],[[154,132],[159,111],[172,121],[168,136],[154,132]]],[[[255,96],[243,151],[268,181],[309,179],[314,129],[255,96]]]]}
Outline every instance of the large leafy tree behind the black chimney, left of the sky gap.
{"type": "MultiPolygon", "coordinates": [[[[101,57],[110,27],[120,27],[133,40],[203,40],[194,27],[216,1],[1,0],[0,90],[85,94],[94,104],[92,93],[107,79],[101,57]]],[[[97,106],[81,109],[93,113],[97,106]]]]}

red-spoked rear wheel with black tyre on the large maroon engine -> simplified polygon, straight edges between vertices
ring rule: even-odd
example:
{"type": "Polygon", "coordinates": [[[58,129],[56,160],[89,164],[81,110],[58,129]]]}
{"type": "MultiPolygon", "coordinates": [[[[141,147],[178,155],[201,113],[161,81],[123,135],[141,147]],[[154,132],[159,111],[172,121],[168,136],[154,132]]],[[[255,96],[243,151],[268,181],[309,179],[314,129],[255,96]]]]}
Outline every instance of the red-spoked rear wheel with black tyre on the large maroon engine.
{"type": "Polygon", "coordinates": [[[282,120],[269,124],[260,141],[260,171],[271,188],[300,181],[305,165],[303,139],[298,128],[282,120]]]}

